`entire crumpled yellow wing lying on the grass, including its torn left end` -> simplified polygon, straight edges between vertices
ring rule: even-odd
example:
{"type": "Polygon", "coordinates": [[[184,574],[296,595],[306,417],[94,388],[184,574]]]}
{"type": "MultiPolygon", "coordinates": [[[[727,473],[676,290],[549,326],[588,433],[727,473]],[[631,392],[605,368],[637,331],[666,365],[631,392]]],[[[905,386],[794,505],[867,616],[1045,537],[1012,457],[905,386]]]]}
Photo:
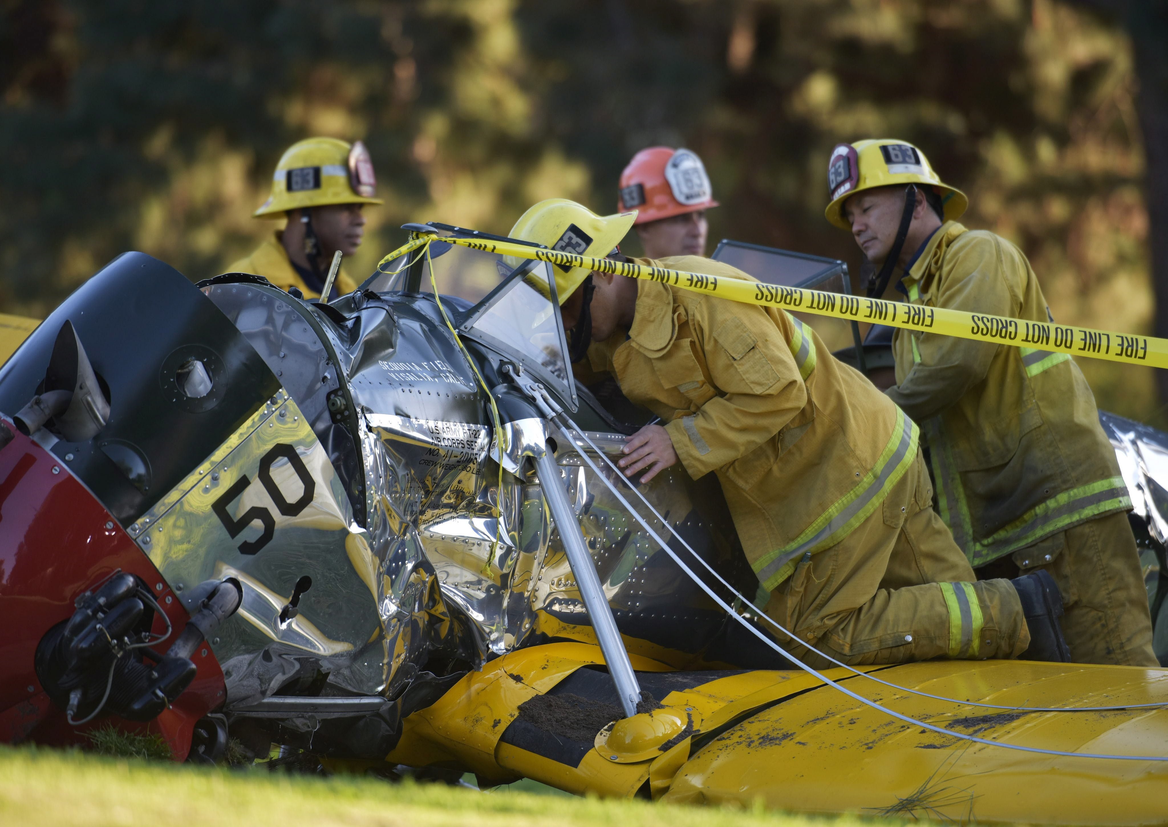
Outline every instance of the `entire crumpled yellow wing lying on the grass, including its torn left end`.
{"type": "MultiPolygon", "coordinates": [[[[566,643],[498,658],[408,717],[388,761],[463,768],[484,783],[528,777],[578,794],[679,804],[750,806],[760,799],[808,813],[1036,825],[1168,820],[1168,764],[1043,756],[946,737],[800,671],[668,672],[634,656],[642,688],[656,687],[656,700],[695,720],[691,735],[638,763],[616,763],[588,745],[573,752],[564,733],[531,728],[520,706],[533,698],[569,685],[577,694],[607,692],[599,664],[598,647],[566,643]],[[515,737],[523,727],[526,741],[515,737]]],[[[1166,670],[952,660],[864,671],[934,695],[1002,706],[1168,702],[1166,670]]],[[[826,674],[953,733],[1070,752],[1168,756],[1168,709],[1003,712],[910,695],[846,670],[826,674]]]]}

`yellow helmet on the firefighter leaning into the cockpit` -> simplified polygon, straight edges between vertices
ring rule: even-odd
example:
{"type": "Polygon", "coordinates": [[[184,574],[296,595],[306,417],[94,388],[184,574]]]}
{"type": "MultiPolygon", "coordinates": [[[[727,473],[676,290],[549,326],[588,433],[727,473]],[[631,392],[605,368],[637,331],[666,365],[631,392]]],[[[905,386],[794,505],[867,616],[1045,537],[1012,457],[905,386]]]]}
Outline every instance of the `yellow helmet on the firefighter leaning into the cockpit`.
{"type": "MultiPolygon", "coordinates": [[[[528,208],[508,233],[552,250],[603,259],[611,253],[637,220],[637,210],[598,216],[568,198],[548,198],[528,208]]],[[[514,267],[519,261],[510,262],[514,267]]],[[[591,271],[552,265],[559,303],[570,296],[591,271]]]]}

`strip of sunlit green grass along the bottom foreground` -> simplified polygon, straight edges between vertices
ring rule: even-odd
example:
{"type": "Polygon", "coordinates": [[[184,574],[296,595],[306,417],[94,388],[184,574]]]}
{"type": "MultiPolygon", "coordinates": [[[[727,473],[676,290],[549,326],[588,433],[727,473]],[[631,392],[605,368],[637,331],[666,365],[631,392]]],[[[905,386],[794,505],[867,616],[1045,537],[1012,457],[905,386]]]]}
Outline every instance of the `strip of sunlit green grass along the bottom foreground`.
{"type": "MultiPolygon", "coordinates": [[[[515,785],[521,786],[522,783],[515,785]]],[[[541,785],[542,786],[542,785],[541,785]]],[[[77,750],[0,747],[0,825],[77,827],[839,827],[798,815],[562,798],[521,790],[482,793],[443,784],[389,784],[262,770],[195,768],[77,750]]],[[[889,821],[882,824],[902,824],[889,821]]]]}

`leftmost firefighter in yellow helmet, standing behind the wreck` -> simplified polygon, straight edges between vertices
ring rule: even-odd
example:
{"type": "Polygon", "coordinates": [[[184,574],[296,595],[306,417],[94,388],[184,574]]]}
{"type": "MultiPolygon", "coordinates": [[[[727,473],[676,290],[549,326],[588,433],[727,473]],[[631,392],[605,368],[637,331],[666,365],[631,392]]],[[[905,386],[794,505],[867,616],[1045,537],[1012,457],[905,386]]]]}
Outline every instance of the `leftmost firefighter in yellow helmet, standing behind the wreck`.
{"type": "MultiPolygon", "coordinates": [[[[227,272],[262,275],[281,289],[319,296],[333,254],[352,255],[361,246],[362,208],[383,203],[374,197],[376,185],[373,161],[361,141],[308,138],[293,143],[276,164],[272,194],[252,213],[286,217],[287,223],[227,272]]],[[[329,299],[356,287],[342,266],[329,299]]]]}

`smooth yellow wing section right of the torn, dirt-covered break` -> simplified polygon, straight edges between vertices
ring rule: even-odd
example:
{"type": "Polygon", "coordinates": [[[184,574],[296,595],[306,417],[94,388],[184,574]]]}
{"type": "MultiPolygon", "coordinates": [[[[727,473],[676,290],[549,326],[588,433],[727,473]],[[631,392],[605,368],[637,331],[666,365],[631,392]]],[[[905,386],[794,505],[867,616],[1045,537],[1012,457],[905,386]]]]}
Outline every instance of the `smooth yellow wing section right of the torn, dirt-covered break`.
{"type": "MultiPolygon", "coordinates": [[[[842,672],[837,670],[836,672],[842,672]]],[[[1002,706],[1168,700],[1168,672],[1029,661],[931,661],[888,668],[892,684],[1002,706]]],[[[1168,755],[1168,709],[1009,713],[933,701],[850,679],[865,698],[954,733],[1042,749],[1168,755]]],[[[715,737],[674,776],[666,800],[959,821],[1150,825],[1168,820],[1168,765],[1042,756],[946,738],[822,687],[715,737]]]]}

